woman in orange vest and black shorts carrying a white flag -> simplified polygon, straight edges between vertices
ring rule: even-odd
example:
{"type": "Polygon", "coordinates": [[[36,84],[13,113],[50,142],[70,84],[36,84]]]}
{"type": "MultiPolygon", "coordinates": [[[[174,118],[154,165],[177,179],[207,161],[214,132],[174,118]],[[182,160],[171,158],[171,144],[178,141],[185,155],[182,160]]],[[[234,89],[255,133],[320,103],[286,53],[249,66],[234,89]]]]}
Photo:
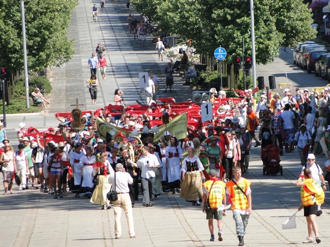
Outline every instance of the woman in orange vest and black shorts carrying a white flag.
{"type": "Polygon", "coordinates": [[[324,203],[324,191],[321,185],[312,178],[312,173],[309,168],[303,169],[299,175],[296,186],[301,186],[300,197],[301,203],[298,211],[304,207],[304,216],[307,220],[308,237],[302,242],[303,244],[313,243],[313,232],[315,234],[316,243],[321,243],[319,238],[319,229],[316,223],[316,214],[318,205],[324,203]]]}

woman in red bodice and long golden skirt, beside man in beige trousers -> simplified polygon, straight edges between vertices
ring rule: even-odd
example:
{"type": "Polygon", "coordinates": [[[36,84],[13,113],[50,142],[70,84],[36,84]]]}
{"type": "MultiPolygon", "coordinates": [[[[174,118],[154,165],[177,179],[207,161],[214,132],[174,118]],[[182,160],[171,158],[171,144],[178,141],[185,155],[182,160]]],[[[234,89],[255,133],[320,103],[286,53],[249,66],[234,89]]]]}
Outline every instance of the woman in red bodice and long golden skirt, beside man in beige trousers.
{"type": "MultiPolygon", "coordinates": [[[[98,154],[99,155],[99,154],[98,154]]],[[[93,176],[99,174],[99,184],[96,185],[95,190],[91,198],[91,203],[101,205],[101,209],[111,209],[109,200],[106,198],[107,192],[109,192],[111,185],[108,183],[109,174],[115,174],[112,169],[109,160],[107,160],[108,154],[106,152],[99,155],[100,161],[96,162],[93,169],[93,176]]]]}

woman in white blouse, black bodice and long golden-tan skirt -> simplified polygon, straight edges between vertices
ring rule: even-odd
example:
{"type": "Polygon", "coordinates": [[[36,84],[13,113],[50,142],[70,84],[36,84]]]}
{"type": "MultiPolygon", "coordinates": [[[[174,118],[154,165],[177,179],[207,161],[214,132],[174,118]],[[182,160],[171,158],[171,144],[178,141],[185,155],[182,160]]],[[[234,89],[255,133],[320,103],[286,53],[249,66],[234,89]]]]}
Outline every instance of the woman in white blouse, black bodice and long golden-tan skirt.
{"type": "Polygon", "coordinates": [[[193,206],[200,206],[202,198],[202,180],[205,180],[204,167],[199,158],[194,155],[195,149],[188,148],[188,156],[182,162],[182,186],[180,197],[192,202],[193,206]]]}

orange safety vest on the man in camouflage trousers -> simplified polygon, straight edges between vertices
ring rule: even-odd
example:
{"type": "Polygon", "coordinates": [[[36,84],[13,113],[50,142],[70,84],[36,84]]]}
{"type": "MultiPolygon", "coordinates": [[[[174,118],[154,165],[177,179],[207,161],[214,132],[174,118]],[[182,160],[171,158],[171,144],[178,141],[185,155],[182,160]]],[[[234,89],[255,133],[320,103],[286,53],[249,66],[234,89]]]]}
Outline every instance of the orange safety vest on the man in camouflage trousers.
{"type": "MultiPolygon", "coordinates": [[[[237,185],[240,186],[242,190],[246,193],[247,189],[251,185],[251,182],[243,178],[243,180],[237,183],[237,185]]],[[[232,202],[234,203],[234,205],[231,206],[231,210],[234,211],[235,209],[239,209],[239,210],[248,209],[249,208],[248,200],[244,195],[244,193],[239,188],[237,188],[235,183],[231,180],[226,184],[226,186],[231,195],[232,202]]]]}

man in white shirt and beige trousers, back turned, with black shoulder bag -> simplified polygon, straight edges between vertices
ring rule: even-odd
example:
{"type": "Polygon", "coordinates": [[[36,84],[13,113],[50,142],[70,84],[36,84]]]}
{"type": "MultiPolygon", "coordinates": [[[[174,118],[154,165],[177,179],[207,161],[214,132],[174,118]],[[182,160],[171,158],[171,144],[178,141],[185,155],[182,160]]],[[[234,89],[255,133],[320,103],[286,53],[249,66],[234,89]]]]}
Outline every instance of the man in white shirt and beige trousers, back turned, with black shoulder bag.
{"type": "Polygon", "coordinates": [[[122,225],[120,222],[122,209],[126,214],[130,238],[135,238],[132,201],[129,194],[129,184],[133,184],[133,179],[129,173],[125,172],[124,166],[121,163],[116,165],[116,171],[117,172],[115,174],[111,174],[108,179],[109,184],[112,184],[113,190],[116,190],[118,195],[118,200],[113,202],[116,239],[120,239],[122,235],[122,225]]]}

